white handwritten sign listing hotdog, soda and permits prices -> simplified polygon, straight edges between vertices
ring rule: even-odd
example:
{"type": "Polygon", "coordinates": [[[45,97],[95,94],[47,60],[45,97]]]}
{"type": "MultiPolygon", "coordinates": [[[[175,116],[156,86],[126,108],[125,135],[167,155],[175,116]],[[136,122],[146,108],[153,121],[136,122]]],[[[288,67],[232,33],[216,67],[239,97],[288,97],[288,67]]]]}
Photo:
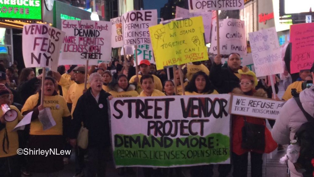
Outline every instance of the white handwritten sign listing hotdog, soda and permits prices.
{"type": "Polygon", "coordinates": [[[249,33],[249,40],[257,77],[284,72],[275,27],[249,33]]]}

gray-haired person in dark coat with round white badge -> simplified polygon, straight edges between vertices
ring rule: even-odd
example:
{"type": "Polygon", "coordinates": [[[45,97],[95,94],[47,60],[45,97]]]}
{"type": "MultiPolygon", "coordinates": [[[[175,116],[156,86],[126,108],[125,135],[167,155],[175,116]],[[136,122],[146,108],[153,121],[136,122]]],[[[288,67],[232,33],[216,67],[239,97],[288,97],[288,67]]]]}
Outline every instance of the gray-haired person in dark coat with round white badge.
{"type": "Polygon", "coordinates": [[[112,96],[102,89],[99,73],[89,76],[90,88],[78,99],[70,128],[70,143],[76,146],[78,131],[83,122],[88,129],[88,162],[86,176],[106,176],[106,160],[110,157],[110,128],[108,98],[112,96]]]}

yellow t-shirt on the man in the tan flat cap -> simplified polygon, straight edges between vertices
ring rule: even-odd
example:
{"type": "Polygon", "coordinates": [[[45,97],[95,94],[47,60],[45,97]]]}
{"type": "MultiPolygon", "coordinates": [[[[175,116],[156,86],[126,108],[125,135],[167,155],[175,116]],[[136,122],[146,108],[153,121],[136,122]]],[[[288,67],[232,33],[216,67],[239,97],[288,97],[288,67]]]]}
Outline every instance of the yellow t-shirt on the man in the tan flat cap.
{"type": "MultiPolygon", "coordinates": [[[[89,88],[89,84],[87,84],[86,87],[89,88]]],[[[72,86],[70,86],[67,102],[72,103],[71,115],[73,115],[76,103],[78,102],[78,98],[83,95],[83,91],[84,83],[83,84],[74,83],[72,86]]]]}

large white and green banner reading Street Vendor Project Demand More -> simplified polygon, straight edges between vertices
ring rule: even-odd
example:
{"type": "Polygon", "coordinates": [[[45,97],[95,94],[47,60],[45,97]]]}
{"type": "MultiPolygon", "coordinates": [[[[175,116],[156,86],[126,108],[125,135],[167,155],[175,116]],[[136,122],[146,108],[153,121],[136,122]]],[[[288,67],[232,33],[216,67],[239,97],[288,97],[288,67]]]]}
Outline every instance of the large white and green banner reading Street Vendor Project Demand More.
{"type": "Polygon", "coordinates": [[[230,163],[229,105],[230,94],[112,99],[116,168],[230,163]]]}

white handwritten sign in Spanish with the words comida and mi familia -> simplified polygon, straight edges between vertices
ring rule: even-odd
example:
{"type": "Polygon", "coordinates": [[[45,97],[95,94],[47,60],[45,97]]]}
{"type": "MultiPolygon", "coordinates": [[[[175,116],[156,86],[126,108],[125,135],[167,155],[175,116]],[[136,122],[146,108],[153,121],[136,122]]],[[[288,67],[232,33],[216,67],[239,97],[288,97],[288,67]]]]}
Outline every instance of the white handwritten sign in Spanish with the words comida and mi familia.
{"type": "MultiPolygon", "coordinates": [[[[246,33],[244,21],[239,19],[224,19],[219,21],[220,54],[230,53],[247,54],[246,33]]],[[[217,27],[213,25],[209,52],[217,54],[217,27]]]]}

